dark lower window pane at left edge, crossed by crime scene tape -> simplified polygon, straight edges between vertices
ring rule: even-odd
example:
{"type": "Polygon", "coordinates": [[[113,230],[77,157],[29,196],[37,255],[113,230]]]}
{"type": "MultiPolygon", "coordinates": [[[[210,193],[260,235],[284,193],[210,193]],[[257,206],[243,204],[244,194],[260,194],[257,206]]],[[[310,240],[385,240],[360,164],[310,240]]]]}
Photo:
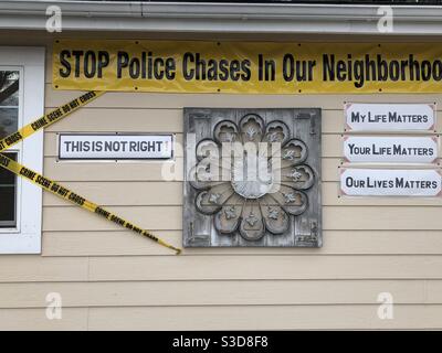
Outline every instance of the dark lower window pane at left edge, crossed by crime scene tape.
{"type": "MultiPolygon", "coordinates": [[[[17,160],[17,153],[4,153],[17,160]]],[[[17,226],[17,178],[10,171],[0,168],[0,228],[17,226]]]]}

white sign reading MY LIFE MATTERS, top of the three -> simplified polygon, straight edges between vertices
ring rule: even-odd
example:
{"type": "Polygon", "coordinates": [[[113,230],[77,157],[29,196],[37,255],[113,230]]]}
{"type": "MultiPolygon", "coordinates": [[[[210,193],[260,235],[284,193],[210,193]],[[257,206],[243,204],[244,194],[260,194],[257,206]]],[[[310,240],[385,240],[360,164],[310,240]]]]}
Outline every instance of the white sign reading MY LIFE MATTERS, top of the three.
{"type": "Polygon", "coordinates": [[[429,131],[435,127],[435,105],[348,103],[345,117],[349,131],[429,131]]]}

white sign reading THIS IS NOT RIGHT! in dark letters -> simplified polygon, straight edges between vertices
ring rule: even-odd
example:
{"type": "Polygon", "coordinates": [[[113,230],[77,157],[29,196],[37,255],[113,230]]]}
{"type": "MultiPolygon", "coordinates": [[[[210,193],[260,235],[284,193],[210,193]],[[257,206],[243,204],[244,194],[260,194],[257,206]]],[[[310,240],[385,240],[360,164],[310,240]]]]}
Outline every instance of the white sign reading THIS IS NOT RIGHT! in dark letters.
{"type": "Polygon", "coordinates": [[[172,135],[71,135],[59,139],[59,158],[70,160],[170,159],[172,135]]]}

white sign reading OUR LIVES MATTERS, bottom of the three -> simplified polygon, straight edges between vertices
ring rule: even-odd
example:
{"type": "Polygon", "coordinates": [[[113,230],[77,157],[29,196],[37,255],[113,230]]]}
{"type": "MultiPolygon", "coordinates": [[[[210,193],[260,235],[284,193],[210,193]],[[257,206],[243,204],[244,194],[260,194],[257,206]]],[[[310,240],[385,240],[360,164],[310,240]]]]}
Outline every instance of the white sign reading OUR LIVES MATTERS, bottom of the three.
{"type": "Polygon", "coordinates": [[[440,196],[441,172],[434,169],[341,169],[340,192],[349,196],[440,196]]]}

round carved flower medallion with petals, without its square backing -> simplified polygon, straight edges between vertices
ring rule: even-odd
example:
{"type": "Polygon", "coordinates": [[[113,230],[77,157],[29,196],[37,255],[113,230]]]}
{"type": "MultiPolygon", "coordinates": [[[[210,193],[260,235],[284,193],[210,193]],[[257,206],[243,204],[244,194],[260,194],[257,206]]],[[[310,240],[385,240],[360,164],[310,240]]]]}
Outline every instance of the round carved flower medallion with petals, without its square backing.
{"type": "Polygon", "coordinates": [[[220,235],[256,242],[285,234],[291,220],[307,210],[317,176],[306,162],[306,143],[292,130],[282,120],[244,114],[219,121],[197,143],[189,175],[194,205],[213,216],[220,235]]]}

